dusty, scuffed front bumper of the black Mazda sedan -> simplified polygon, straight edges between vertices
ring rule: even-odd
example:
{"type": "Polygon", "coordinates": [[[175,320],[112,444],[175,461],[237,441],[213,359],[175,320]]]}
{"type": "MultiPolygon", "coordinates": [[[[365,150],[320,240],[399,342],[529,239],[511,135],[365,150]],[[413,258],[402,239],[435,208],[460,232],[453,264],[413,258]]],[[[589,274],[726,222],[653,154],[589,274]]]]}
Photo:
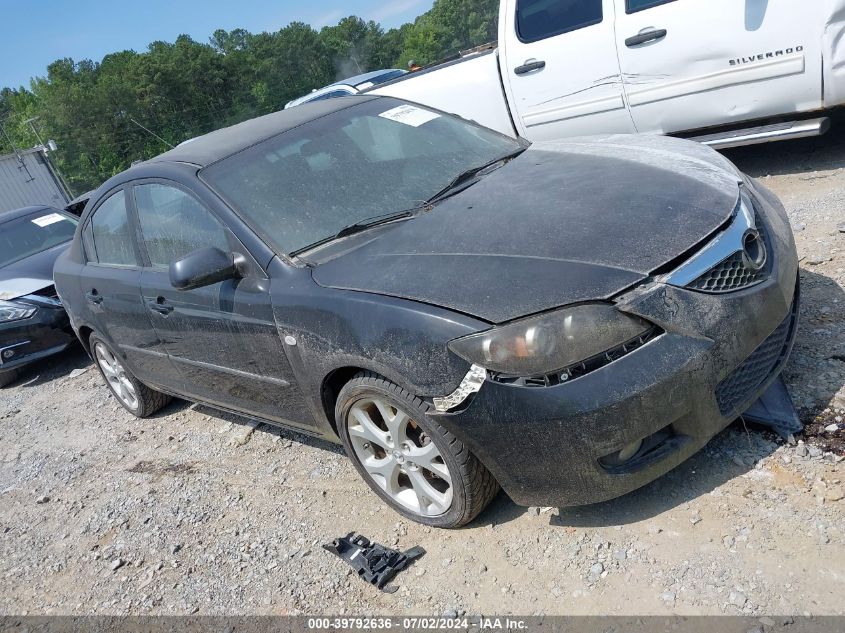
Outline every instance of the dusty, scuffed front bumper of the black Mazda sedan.
{"type": "Polygon", "coordinates": [[[795,244],[782,207],[759,202],[774,256],[765,282],[722,295],[638,288],[617,305],[665,331],[644,347],[553,387],[488,380],[463,410],[433,417],[521,505],[612,499],[679,465],[759,398],[792,348],[795,244]],[[645,438],[629,462],[600,462],[645,438]]]}

